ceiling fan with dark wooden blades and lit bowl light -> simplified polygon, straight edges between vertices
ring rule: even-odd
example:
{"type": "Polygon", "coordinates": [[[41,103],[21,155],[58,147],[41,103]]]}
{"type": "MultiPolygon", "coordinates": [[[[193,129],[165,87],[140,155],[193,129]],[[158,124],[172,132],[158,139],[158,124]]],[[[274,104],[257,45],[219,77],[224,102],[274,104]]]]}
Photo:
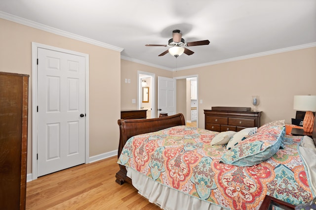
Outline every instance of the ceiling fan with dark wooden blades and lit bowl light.
{"type": "Polygon", "coordinates": [[[187,54],[188,56],[194,54],[193,51],[189,50],[186,47],[190,46],[198,46],[198,45],[208,45],[208,40],[202,40],[202,41],[194,41],[194,42],[188,42],[185,43],[184,39],[182,38],[182,33],[180,33],[180,30],[173,30],[172,31],[172,38],[169,39],[168,44],[146,44],[145,46],[154,46],[154,47],[170,47],[168,50],[164,51],[158,56],[164,56],[167,53],[170,53],[174,57],[179,57],[183,53],[187,54]]]}

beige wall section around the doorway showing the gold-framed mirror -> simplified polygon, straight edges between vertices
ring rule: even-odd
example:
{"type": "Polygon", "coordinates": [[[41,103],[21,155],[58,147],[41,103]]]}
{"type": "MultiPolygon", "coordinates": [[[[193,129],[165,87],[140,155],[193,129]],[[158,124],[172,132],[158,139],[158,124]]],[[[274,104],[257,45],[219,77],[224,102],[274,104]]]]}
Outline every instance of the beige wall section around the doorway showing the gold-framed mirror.
{"type": "Polygon", "coordinates": [[[137,109],[137,72],[143,71],[156,75],[155,91],[156,91],[156,117],[157,117],[157,91],[158,91],[158,76],[172,78],[172,71],[163,70],[160,68],[128,61],[121,60],[120,69],[120,100],[121,110],[137,109]],[[125,79],[130,79],[130,83],[125,83],[125,79]],[[136,99],[136,103],[132,103],[132,99],[136,99]]]}

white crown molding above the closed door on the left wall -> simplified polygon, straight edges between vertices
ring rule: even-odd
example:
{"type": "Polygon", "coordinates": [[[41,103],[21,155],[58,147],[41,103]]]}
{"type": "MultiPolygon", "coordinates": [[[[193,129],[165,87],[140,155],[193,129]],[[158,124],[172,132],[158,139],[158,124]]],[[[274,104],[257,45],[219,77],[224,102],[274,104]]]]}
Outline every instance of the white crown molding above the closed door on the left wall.
{"type": "Polygon", "coordinates": [[[87,38],[87,37],[84,37],[84,36],[79,36],[77,34],[70,33],[70,32],[64,31],[64,30],[55,29],[53,27],[49,27],[49,26],[46,26],[46,25],[43,25],[43,24],[40,24],[40,23],[37,23],[37,22],[34,22],[34,21],[30,21],[30,20],[27,20],[27,19],[15,16],[15,15],[11,15],[11,14],[8,14],[8,13],[2,12],[2,11],[0,11],[0,18],[8,20],[8,21],[15,22],[15,23],[19,23],[19,24],[22,24],[22,25],[25,25],[25,26],[29,26],[29,27],[32,27],[32,28],[35,28],[35,29],[44,30],[44,31],[47,31],[47,32],[50,32],[50,33],[54,33],[54,34],[57,34],[57,35],[68,37],[68,38],[71,38],[71,39],[76,39],[76,40],[79,40],[79,41],[82,41],[82,42],[86,42],[86,43],[89,43],[89,44],[93,44],[93,45],[96,45],[96,46],[99,46],[99,47],[107,48],[107,49],[110,49],[110,50],[115,50],[115,51],[118,51],[118,52],[122,52],[123,51],[123,48],[119,48],[119,47],[116,47],[116,46],[113,46],[113,45],[110,45],[110,44],[106,44],[106,43],[103,43],[103,42],[100,42],[100,41],[97,41],[97,40],[94,40],[94,39],[90,39],[90,38],[87,38]]]}

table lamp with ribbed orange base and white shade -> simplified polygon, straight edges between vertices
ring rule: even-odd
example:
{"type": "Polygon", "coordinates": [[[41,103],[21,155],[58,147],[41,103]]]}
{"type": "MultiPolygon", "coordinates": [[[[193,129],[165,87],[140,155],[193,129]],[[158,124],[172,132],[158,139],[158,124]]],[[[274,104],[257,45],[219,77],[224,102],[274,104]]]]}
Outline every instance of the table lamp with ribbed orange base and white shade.
{"type": "Polygon", "coordinates": [[[315,117],[312,112],[316,111],[316,95],[294,95],[293,109],[306,111],[303,120],[304,132],[312,133],[315,117]]]}

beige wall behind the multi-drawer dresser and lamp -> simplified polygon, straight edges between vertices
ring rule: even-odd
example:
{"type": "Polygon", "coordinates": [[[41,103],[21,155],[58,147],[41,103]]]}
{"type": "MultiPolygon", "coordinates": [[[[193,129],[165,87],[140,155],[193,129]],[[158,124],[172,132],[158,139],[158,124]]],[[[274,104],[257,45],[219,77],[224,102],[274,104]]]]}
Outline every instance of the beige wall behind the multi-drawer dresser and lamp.
{"type": "Polygon", "coordinates": [[[204,109],[252,107],[252,95],[259,95],[261,124],[290,122],[296,112],[293,95],[316,95],[316,47],[181,70],[173,77],[196,74],[198,99],[202,100],[199,127],[204,128],[204,109]]]}

